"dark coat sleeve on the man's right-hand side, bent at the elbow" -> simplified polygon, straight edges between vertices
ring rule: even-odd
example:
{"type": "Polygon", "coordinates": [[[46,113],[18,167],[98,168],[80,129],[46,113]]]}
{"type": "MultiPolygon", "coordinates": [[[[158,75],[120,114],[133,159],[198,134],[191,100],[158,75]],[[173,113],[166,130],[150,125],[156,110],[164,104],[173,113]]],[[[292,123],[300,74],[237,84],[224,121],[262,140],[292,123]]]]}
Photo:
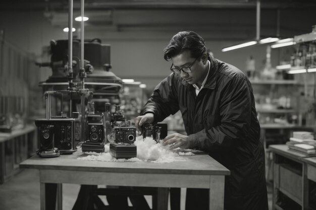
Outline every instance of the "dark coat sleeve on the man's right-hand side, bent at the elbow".
{"type": "Polygon", "coordinates": [[[220,98],[220,124],[189,135],[190,148],[232,149],[247,138],[251,124],[251,91],[242,77],[231,79],[220,98]]]}

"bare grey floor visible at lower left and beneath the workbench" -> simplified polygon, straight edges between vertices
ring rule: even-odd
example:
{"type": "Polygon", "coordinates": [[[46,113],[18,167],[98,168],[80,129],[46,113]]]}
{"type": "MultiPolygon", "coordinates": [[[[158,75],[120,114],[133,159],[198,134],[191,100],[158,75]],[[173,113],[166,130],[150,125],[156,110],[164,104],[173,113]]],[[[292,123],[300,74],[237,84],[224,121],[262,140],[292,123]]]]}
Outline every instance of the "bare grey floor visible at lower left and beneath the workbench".
{"type": "MultiPolygon", "coordinates": [[[[72,209],[80,185],[63,184],[63,209],[72,209]]],[[[272,209],[271,187],[268,187],[269,209],[272,209]]],[[[39,210],[39,173],[35,169],[24,169],[0,185],[0,210],[39,210]]],[[[108,204],[105,196],[100,196],[108,204]]],[[[151,196],[145,196],[151,207],[151,196]]],[[[185,189],[181,189],[181,209],[184,209],[185,189]]],[[[169,204],[170,210],[170,204],[169,204]]]]}

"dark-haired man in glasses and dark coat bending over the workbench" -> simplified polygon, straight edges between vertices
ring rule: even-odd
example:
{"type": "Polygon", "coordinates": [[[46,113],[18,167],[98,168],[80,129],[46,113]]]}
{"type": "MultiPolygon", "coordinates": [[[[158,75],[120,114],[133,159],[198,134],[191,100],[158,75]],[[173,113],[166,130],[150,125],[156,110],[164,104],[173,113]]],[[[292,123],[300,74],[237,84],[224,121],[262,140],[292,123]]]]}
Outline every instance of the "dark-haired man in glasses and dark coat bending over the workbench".
{"type": "MultiPolygon", "coordinates": [[[[168,135],[163,144],[205,151],[231,171],[225,178],[225,209],[268,210],[264,148],[247,77],[210,57],[193,31],[174,35],[164,58],[172,61],[172,73],[135,118],[137,130],[180,110],[188,135],[168,135]]],[[[186,209],[208,209],[208,196],[207,189],[187,189],[186,209]]]]}

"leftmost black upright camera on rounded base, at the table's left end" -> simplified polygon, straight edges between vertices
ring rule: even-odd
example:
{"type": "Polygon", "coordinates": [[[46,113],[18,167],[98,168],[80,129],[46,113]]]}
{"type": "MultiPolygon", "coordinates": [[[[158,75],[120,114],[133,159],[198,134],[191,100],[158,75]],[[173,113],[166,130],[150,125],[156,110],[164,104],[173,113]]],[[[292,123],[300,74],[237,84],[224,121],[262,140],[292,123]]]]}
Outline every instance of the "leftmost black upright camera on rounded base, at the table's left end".
{"type": "Polygon", "coordinates": [[[39,150],[36,154],[42,158],[54,158],[60,156],[60,152],[54,146],[54,125],[40,124],[38,126],[39,150]]]}

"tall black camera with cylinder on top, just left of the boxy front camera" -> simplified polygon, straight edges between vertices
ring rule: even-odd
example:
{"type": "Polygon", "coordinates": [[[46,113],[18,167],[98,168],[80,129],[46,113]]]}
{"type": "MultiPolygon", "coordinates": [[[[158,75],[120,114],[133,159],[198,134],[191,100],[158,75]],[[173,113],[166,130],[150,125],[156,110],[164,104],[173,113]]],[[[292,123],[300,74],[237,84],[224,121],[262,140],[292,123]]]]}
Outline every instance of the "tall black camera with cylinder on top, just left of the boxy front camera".
{"type": "Polygon", "coordinates": [[[104,152],[104,125],[103,113],[92,113],[87,115],[87,135],[88,138],[81,146],[82,152],[104,152]]]}

